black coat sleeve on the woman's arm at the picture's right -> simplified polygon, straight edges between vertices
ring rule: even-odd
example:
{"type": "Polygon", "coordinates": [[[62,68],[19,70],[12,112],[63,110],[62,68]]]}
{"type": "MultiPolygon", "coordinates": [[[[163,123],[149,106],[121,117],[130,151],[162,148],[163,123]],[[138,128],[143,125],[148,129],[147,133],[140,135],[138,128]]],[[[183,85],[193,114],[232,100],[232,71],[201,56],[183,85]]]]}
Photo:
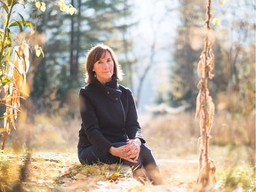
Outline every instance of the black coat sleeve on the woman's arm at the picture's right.
{"type": "Polygon", "coordinates": [[[130,140],[139,138],[142,143],[146,142],[142,136],[135,101],[130,90],[128,92],[128,112],[126,117],[125,131],[130,140]]]}

